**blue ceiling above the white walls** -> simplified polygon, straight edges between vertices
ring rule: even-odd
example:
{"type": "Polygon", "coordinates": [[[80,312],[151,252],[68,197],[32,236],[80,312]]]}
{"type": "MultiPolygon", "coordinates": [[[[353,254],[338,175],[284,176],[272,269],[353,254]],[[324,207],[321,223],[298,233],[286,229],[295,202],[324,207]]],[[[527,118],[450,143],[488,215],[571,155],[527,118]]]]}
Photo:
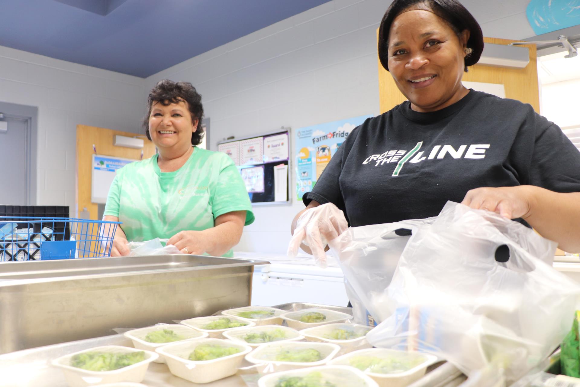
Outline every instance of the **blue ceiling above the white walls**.
{"type": "Polygon", "coordinates": [[[0,45],[144,78],[328,1],[0,0],[0,45]]]}

